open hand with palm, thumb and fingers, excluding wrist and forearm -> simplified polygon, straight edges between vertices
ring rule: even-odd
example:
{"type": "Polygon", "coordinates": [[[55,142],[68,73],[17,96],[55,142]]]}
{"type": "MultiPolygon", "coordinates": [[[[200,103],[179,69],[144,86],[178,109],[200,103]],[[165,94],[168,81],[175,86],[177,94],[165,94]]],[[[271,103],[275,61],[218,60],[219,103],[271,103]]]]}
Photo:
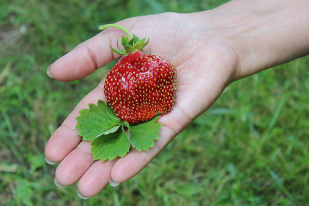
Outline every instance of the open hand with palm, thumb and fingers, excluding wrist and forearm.
{"type": "MultiPolygon", "coordinates": [[[[62,185],[79,181],[84,196],[98,194],[110,179],[117,183],[127,181],[141,171],[168,143],[203,113],[233,78],[236,62],[229,47],[220,38],[207,32],[196,19],[196,14],[165,13],[139,16],[119,22],[139,38],[149,37],[145,52],[163,56],[176,66],[177,98],[170,113],[159,118],[161,133],[155,146],[148,152],[130,150],[122,158],[113,161],[93,161],[90,142],[78,136],[76,117],[78,111],[104,100],[100,82],[84,97],[65,122],[55,131],[45,148],[49,161],[59,162],[56,179],[62,185]]],[[[51,75],[60,81],[84,78],[95,69],[118,58],[109,49],[116,46],[121,30],[108,29],[81,43],[69,54],[58,59],[50,67],[51,75]]]]}

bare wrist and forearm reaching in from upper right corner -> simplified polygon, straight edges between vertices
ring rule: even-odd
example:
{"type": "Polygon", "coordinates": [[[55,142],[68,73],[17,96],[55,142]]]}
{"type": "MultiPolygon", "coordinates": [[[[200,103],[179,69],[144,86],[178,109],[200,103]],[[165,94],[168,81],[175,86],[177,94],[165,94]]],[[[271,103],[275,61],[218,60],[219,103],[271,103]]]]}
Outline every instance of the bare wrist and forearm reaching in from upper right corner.
{"type": "Polygon", "coordinates": [[[309,54],[308,1],[230,1],[197,13],[211,41],[229,47],[234,78],[309,54]]]}

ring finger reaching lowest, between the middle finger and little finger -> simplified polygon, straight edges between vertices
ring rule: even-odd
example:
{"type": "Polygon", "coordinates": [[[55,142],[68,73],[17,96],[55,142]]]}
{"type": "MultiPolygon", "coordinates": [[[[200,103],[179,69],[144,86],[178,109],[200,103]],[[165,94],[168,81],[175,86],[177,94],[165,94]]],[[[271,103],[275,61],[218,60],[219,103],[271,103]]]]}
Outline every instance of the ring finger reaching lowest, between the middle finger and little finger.
{"type": "Polygon", "coordinates": [[[95,161],[78,182],[80,193],[91,197],[101,192],[111,179],[111,168],[116,161],[95,161]]]}

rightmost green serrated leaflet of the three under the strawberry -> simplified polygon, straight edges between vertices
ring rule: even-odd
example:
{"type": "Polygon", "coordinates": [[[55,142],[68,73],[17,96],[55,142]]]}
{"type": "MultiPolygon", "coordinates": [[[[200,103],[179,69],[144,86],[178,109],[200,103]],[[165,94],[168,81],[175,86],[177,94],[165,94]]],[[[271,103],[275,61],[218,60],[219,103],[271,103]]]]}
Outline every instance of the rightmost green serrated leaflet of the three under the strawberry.
{"type": "Polygon", "coordinates": [[[136,125],[130,125],[129,138],[133,148],[137,150],[146,150],[154,146],[155,139],[159,138],[161,124],[157,123],[159,117],[148,122],[142,122],[136,125]]]}

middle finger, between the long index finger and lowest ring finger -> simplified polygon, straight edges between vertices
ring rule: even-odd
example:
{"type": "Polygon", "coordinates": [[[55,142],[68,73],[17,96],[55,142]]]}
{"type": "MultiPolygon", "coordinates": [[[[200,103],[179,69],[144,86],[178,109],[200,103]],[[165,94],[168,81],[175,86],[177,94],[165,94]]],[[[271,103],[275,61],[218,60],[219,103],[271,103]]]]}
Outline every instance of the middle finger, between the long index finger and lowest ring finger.
{"type": "Polygon", "coordinates": [[[63,159],[56,169],[56,180],[61,185],[72,185],[93,164],[93,157],[89,153],[91,148],[90,141],[81,141],[69,155],[63,159]]]}

